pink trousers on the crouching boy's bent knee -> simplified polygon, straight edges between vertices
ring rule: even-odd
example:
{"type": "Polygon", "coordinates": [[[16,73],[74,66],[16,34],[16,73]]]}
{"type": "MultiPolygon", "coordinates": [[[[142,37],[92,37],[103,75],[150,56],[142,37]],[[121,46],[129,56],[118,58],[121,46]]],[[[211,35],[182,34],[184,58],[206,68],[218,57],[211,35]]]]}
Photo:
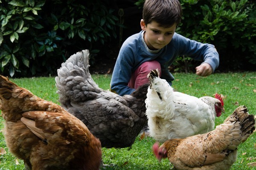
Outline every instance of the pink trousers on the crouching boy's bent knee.
{"type": "Polygon", "coordinates": [[[128,83],[129,88],[137,89],[141,85],[148,83],[147,75],[151,70],[158,69],[161,76],[161,66],[156,60],[144,62],[140,65],[132,74],[130,82],[128,83]]]}

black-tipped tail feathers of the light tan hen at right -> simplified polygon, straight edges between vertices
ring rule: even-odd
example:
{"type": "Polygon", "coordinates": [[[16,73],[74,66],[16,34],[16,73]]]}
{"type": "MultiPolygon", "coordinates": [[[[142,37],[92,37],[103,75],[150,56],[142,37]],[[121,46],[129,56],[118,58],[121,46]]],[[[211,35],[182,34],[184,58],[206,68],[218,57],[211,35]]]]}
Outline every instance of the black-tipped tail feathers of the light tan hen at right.
{"type": "Polygon", "coordinates": [[[247,140],[247,138],[255,130],[255,119],[253,114],[248,113],[246,106],[239,106],[236,110],[225,120],[227,121],[237,121],[241,123],[241,142],[247,140]]]}

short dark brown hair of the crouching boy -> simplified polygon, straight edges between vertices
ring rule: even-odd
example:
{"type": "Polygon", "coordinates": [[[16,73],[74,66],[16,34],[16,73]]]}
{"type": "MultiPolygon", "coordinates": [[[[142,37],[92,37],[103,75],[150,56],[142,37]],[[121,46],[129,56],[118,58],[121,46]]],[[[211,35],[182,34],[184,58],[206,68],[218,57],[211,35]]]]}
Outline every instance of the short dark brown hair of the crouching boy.
{"type": "Polygon", "coordinates": [[[182,7],[178,0],[145,0],[143,20],[145,25],[155,21],[159,26],[171,27],[180,23],[182,7]]]}

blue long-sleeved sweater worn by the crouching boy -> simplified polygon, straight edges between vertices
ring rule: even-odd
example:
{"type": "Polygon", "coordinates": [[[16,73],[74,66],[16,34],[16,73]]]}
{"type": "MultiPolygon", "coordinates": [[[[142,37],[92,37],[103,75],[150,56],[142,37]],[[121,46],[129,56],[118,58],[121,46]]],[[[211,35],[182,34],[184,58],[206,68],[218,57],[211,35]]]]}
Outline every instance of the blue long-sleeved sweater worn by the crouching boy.
{"type": "Polygon", "coordinates": [[[122,44],[111,78],[111,89],[121,96],[131,94],[135,91],[135,89],[127,86],[131,74],[143,62],[151,60],[160,62],[161,78],[166,79],[172,85],[174,77],[169,72],[168,67],[179,55],[186,55],[192,59],[204,61],[203,63],[211,65],[213,71],[219,64],[219,55],[214,45],[189,40],[177,33],[173,35],[168,45],[157,54],[152,54],[145,48],[142,41],[142,31],[140,31],[140,33],[128,37],[122,44]]]}

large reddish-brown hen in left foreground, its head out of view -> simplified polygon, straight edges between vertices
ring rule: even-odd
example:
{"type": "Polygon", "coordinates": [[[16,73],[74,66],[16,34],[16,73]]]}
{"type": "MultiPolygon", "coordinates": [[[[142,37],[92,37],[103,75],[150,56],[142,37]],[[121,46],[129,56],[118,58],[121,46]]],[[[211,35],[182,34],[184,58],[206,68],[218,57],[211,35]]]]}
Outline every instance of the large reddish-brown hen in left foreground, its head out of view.
{"type": "Polygon", "coordinates": [[[6,145],[26,170],[99,170],[99,139],[59,105],[0,76],[0,110],[6,145]]]}

